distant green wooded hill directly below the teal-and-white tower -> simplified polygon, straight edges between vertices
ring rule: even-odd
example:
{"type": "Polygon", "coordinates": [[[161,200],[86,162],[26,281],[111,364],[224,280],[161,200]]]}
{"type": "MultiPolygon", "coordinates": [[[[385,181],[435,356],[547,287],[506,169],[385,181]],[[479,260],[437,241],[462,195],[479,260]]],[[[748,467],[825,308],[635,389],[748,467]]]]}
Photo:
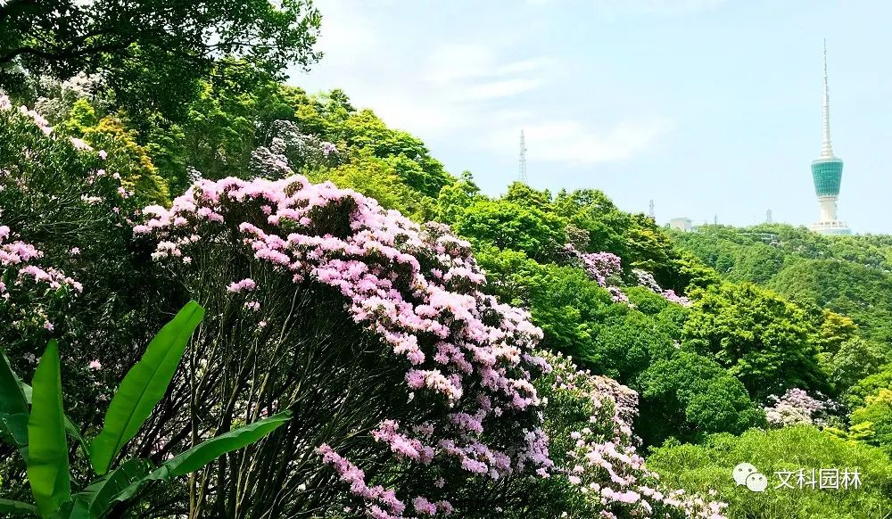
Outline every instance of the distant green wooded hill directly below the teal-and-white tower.
{"type": "Polygon", "coordinates": [[[851,317],[864,338],[892,340],[888,236],[828,237],[775,224],[704,226],[673,239],[731,281],[764,284],[802,305],[851,317]]]}

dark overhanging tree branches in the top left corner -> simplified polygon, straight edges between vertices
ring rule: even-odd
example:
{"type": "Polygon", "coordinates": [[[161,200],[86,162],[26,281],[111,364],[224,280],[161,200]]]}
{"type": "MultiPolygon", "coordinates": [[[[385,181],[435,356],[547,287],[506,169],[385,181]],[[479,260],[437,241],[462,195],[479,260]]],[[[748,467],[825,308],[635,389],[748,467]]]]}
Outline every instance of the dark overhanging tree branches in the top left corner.
{"type": "Polygon", "coordinates": [[[320,20],[305,0],[12,0],[0,5],[0,87],[21,94],[29,78],[99,73],[116,107],[178,119],[221,56],[268,78],[316,62],[320,20]]]}

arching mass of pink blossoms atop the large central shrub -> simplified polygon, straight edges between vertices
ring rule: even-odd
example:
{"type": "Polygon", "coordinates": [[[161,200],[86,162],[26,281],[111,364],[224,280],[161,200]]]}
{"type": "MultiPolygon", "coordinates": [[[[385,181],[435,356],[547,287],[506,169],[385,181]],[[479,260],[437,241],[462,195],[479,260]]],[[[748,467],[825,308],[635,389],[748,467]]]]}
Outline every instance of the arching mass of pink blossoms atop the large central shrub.
{"type": "MultiPolygon", "coordinates": [[[[144,212],[150,218],[134,232],[153,237],[155,260],[182,262],[203,257],[193,252],[198,247],[241,243],[245,255],[301,288],[323,284],[343,294],[348,315],[377,334],[405,367],[407,391],[426,391],[448,409],[432,412],[425,424],[380,424],[372,436],[395,457],[457,465],[493,479],[548,474],[548,438],[537,428],[534,411],[541,402],[533,379],[549,366],[529,353],[541,330],[525,311],[481,292],[485,278],[470,244],[449,227],[418,227],[373,199],[300,176],[202,180],[169,210],[144,212]],[[234,235],[221,240],[226,233],[234,235]],[[491,424],[515,431],[516,438],[501,447],[485,443],[491,424]]],[[[229,292],[252,288],[251,280],[227,286],[229,292]]],[[[405,506],[383,501],[384,490],[368,490],[374,487],[349,461],[330,449],[321,453],[364,500],[368,515],[402,516],[405,506]]],[[[426,499],[414,503],[418,515],[449,508],[432,508],[426,499]]]]}

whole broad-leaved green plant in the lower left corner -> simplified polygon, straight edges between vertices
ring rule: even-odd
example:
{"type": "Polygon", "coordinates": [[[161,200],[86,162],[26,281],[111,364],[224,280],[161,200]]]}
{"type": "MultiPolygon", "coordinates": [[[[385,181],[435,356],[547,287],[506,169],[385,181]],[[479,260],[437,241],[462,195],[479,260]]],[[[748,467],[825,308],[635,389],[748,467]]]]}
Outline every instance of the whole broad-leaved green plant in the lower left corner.
{"type": "Polygon", "coordinates": [[[0,499],[0,512],[41,517],[93,519],[114,507],[127,507],[149,482],[194,472],[217,457],[266,436],[290,419],[290,412],[268,416],[203,441],[159,466],[138,457],[120,461],[121,449],[133,439],[164,397],[190,336],[204,309],[190,301],[145,350],[143,358],[120,383],[105,414],[102,431],[92,440],[80,437],[62,408],[59,345],[51,341],[31,385],[21,382],[0,351],[0,433],[18,449],[27,466],[34,504],[0,499]],[[77,493],[71,491],[66,429],[76,437],[98,477],[77,493]]]}

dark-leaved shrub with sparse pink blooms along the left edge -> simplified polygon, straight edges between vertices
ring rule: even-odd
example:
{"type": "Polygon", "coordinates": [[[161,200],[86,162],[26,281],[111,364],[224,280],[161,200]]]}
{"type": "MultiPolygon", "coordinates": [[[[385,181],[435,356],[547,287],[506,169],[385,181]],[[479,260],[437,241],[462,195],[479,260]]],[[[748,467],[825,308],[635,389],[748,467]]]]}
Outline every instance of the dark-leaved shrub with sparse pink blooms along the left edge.
{"type": "MultiPolygon", "coordinates": [[[[0,94],[0,342],[31,380],[47,340],[59,340],[66,411],[85,431],[158,325],[145,309],[169,296],[130,246],[136,207],[114,159],[0,94]]],[[[4,449],[4,498],[27,500],[24,465],[4,449]]],[[[78,480],[84,468],[72,465],[78,480]]]]}

